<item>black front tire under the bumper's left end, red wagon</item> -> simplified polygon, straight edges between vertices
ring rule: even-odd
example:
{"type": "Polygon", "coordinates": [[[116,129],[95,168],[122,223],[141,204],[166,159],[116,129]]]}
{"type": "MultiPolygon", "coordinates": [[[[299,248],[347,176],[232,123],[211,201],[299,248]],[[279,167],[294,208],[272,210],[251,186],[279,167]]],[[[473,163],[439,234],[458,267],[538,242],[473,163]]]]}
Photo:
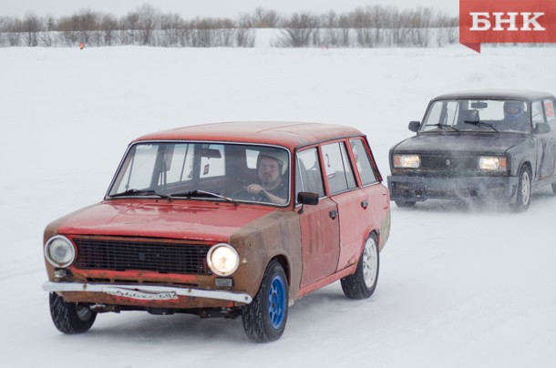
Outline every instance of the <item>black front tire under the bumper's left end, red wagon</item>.
{"type": "Polygon", "coordinates": [[[50,316],[60,332],[74,334],[88,332],[97,319],[97,312],[84,304],[64,302],[56,292],[51,292],[50,316]]]}

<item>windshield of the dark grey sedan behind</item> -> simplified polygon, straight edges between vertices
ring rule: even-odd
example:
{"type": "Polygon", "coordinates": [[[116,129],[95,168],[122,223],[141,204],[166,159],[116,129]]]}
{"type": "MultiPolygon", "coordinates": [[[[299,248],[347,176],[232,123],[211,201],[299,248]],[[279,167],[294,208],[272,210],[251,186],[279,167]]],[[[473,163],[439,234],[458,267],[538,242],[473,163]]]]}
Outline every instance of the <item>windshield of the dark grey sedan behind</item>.
{"type": "Polygon", "coordinates": [[[427,110],[422,132],[495,131],[529,132],[528,104],[506,99],[457,99],[434,101],[427,110]]]}

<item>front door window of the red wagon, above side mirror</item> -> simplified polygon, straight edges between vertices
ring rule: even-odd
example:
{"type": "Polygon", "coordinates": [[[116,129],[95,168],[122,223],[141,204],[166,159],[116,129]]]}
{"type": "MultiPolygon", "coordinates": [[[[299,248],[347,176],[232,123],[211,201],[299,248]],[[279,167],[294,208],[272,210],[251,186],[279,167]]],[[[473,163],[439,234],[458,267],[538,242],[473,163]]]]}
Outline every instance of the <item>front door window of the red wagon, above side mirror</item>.
{"type": "Polygon", "coordinates": [[[295,198],[300,191],[317,193],[324,197],[323,175],[318,164],[316,148],[309,148],[297,154],[297,172],[295,176],[295,198]]]}

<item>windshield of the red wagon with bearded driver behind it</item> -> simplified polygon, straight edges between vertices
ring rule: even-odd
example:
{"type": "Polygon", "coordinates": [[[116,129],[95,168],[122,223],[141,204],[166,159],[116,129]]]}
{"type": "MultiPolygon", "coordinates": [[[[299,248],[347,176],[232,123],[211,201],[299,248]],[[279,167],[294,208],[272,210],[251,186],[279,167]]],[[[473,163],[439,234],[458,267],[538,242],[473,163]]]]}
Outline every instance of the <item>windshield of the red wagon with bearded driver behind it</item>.
{"type": "Polygon", "coordinates": [[[158,197],[249,201],[290,200],[290,159],[283,148],[223,143],[141,142],[131,148],[108,198],[158,197]]]}

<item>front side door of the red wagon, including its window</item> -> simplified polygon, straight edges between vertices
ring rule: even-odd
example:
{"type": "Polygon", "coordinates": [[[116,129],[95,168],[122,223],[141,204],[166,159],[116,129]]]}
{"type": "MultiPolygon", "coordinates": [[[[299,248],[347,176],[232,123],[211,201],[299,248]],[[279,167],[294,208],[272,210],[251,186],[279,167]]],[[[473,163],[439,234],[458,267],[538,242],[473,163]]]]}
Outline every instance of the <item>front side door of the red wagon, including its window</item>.
{"type": "Polygon", "coordinates": [[[315,206],[304,206],[300,215],[303,270],[300,287],[335,273],[340,255],[338,207],[325,196],[318,148],[296,154],[295,198],[300,191],[317,193],[315,206]]]}

